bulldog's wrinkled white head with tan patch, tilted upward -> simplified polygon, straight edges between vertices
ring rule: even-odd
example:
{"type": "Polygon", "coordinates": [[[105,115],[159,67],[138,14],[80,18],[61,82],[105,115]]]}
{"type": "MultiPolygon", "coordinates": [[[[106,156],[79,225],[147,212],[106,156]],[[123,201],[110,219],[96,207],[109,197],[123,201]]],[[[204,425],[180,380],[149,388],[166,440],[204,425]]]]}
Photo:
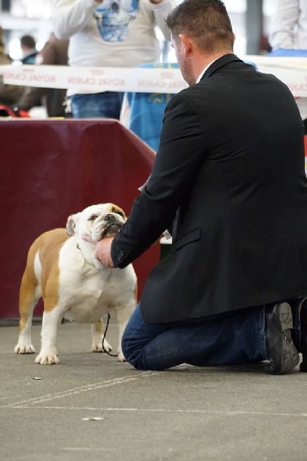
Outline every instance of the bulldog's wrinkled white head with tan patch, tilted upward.
{"type": "Polygon", "coordinates": [[[79,237],[89,235],[98,241],[118,233],[126,219],[124,211],[112,203],[87,206],[80,213],[68,217],[66,232],[79,237]]]}

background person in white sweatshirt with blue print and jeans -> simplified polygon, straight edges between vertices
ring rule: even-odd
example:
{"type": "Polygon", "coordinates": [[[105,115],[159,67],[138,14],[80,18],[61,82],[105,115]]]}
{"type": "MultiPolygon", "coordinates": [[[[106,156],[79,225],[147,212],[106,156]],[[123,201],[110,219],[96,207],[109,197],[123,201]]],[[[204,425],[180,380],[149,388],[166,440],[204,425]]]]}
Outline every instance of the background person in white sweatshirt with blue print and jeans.
{"type": "MultiPolygon", "coordinates": [[[[54,0],[52,25],[70,39],[69,65],[136,67],[159,61],[156,25],[170,40],[165,18],[174,0],[54,0]]],[[[122,92],[87,94],[68,89],[74,118],[120,118],[122,92]]]]}

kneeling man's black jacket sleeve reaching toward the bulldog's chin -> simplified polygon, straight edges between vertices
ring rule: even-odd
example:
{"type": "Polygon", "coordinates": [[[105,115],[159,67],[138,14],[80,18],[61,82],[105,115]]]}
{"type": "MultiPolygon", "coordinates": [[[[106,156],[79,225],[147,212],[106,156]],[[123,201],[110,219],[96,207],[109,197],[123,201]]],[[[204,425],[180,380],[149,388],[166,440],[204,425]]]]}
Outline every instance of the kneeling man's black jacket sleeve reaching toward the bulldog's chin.
{"type": "Polygon", "coordinates": [[[165,110],[160,146],[145,189],[134,200],[127,222],[114,237],[114,267],[125,268],[160,238],[189,195],[204,161],[206,129],[197,111],[182,94],[165,110]]]}

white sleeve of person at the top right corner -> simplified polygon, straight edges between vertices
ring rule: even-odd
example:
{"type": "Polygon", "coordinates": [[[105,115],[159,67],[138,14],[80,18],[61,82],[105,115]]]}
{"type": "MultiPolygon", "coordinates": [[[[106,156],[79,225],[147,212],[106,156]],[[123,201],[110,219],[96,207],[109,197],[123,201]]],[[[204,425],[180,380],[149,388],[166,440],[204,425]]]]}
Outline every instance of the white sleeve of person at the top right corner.
{"type": "Polygon", "coordinates": [[[295,48],[295,25],[299,19],[299,0],[277,0],[275,3],[269,42],[273,50],[295,48]]]}

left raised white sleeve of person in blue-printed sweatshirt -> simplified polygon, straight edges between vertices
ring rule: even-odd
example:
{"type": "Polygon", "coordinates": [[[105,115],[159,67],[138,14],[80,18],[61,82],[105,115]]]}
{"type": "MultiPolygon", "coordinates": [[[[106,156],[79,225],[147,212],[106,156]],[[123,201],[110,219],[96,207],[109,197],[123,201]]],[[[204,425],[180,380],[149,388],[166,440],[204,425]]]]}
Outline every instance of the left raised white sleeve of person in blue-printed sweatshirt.
{"type": "Polygon", "coordinates": [[[98,7],[95,0],[54,0],[52,30],[60,40],[82,30],[98,7]]]}

